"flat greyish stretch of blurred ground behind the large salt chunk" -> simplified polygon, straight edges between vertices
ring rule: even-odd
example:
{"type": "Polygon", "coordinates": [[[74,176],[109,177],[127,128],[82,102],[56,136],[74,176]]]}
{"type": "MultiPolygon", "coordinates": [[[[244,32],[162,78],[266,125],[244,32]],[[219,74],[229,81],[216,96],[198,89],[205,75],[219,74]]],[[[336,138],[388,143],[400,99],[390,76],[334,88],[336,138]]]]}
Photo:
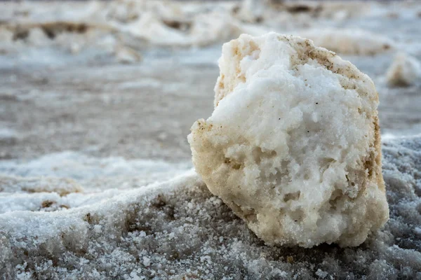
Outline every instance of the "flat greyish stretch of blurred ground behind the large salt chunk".
{"type": "MultiPolygon", "coordinates": [[[[379,79],[392,58],[349,57],[379,79]]],[[[188,60],[1,69],[1,122],[10,133],[1,141],[1,157],[29,159],[72,150],[100,157],[189,160],[189,128],[213,111],[218,57],[189,64],[182,59],[188,60]]],[[[420,87],[380,83],[377,90],[384,134],[420,132],[420,87]]]]}

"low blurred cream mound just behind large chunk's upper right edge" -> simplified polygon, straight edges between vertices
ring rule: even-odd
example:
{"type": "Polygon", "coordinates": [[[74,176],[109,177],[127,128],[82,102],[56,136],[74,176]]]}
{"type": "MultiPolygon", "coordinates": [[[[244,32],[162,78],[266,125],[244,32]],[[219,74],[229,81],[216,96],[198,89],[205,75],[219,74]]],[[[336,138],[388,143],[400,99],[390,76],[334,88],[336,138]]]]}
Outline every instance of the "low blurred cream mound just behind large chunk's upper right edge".
{"type": "Polygon", "coordinates": [[[389,38],[360,29],[310,29],[298,35],[344,55],[377,55],[394,48],[389,38]]]}

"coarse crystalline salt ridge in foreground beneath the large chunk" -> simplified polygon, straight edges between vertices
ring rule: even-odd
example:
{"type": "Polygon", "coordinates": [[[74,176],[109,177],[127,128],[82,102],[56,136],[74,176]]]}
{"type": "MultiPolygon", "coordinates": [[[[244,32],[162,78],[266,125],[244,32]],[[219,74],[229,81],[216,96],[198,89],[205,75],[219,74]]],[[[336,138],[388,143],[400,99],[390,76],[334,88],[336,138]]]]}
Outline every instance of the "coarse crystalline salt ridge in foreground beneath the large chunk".
{"type": "Polygon", "coordinates": [[[265,246],[199,176],[189,172],[89,207],[0,214],[0,275],[6,279],[418,279],[420,151],[420,137],[384,144],[391,217],[364,246],[323,244],[311,250],[265,246]]]}

